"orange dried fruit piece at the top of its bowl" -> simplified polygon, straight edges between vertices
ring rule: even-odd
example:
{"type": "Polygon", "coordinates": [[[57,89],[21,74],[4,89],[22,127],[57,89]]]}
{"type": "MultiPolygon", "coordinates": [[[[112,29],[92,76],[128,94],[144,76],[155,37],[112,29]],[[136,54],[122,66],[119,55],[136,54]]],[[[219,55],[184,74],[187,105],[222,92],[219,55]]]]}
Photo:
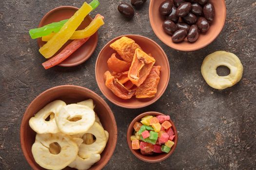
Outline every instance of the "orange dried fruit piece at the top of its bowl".
{"type": "Polygon", "coordinates": [[[110,47],[117,51],[121,58],[131,63],[136,49],[140,49],[139,45],[135,41],[126,36],[121,37],[114,43],[110,44],[110,47]]]}

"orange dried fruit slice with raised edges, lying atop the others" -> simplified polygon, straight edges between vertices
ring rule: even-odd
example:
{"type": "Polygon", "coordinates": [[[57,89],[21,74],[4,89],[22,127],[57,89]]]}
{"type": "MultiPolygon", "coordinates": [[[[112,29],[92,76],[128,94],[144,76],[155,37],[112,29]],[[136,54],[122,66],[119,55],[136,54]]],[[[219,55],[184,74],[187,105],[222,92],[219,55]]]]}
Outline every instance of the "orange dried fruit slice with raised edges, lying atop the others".
{"type": "Polygon", "coordinates": [[[155,62],[155,58],[149,56],[140,49],[136,49],[132,65],[128,73],[129,80],[131,80],[133,84],[140,86],[148,77],[155,62]]]}

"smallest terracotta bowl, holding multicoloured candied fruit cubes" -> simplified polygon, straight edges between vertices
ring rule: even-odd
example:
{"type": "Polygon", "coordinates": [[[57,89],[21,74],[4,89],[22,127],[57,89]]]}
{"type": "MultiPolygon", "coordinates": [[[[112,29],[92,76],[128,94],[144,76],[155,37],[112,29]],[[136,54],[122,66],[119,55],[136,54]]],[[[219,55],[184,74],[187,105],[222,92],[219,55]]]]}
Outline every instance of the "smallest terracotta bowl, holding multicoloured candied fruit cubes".
{"type": "Polygon", "coordinates": [[[140,160],[142,161],[145,161],[145,162],[151,162],[151,163],[154,163],[154,162],[160,162],[160,161],[163,161],[164,159],[168,158],[175,150],[176,146],[177,146],[177,141],[178,141],[178,133],[177,133],[177,129],[174,125],[174,122],[172,120],[169,120],[172,124],[172,128],[173,128],[173,131],[174,131],[174,146],[171,148],[171,151],[169,153],[154,153],[152,155],[143,155],[140,153],[140,150],[133,150],[132,149],[132,142],[131,142],[131,136],[133,135],[134,133],[134,128],[133,128],[133,125],[136,121],[140,121],[141,118],[147,116],[147,115],[152,115],[152,116],[158,116],[158,115],[164,115],[162,113],[159,113],[159,112],[145,112],[145,113],[142,113],[140,115],[138,115],[135,119],[133,119],[133,121],[130,123],[129,127],[128,127],[128,130],[127,130],[127,143],[128,143],[128,146],[131,150],[131,152],[136,156],[138,157],[140,160]]]}

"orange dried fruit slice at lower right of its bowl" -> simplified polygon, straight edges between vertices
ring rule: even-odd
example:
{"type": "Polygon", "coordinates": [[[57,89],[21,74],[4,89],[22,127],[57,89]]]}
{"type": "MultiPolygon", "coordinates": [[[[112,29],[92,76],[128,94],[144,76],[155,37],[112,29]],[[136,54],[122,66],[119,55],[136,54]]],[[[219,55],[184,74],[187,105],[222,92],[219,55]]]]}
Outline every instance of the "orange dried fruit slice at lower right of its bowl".
{"type": "Polygon", "coordinates": [[[154,66],[146,80],[136,90],[136,98],[152,98],[157,93],[158,83],[160,80],[160,66],[154,66]]]}

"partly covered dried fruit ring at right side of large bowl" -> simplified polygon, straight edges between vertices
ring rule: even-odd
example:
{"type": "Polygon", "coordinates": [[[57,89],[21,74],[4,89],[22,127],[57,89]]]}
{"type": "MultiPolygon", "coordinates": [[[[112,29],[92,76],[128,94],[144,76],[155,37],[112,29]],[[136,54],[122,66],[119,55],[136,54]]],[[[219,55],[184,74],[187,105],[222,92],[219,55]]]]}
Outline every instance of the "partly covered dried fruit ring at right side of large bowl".
{"type": "Polygon", "coordinates": [[[100,126],[97,122],[93,124],[93,126],[86,132],[91,133],[96,137],[96,140],[93,144],[86,145],[82,143],[79,146],[79,155],[82,158],[88,158],[91,153],[101,153],[106,144],[107,144],[107,136],[102,126],[100,126]]]}

